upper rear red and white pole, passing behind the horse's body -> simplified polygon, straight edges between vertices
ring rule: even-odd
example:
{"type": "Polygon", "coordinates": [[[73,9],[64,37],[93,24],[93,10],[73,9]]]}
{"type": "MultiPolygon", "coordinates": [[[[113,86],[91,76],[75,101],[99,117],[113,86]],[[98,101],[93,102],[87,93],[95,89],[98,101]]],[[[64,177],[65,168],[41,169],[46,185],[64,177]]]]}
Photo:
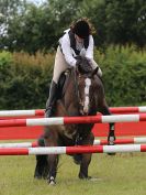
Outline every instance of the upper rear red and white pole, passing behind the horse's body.
{"type": "MultiPolygon", "coordinates": [[[[111,107],[110,111],[112,113],[137,113],[146,112],[146,106],[139,107],[111,107]]],[[[2,110],[0,111],[0,117],[23,117],[23,116],[44,116],[44,109],[36,110],[2,110]]]]}

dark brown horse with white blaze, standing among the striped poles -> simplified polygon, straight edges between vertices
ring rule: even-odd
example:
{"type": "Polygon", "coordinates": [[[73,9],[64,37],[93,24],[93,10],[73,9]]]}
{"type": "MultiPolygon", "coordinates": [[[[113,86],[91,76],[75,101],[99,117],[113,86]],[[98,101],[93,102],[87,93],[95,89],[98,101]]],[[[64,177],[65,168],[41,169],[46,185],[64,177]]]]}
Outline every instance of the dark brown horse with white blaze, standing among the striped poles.
{"type": "MultiPolygon", "coordinates": [[[[105,100],[103,83],[98,76],[98,68],[93,71],[86,57],[79,56],[79,59],[80,64],[77,67],[69,68],[61,75],[61,78],[65,78],[61,79],[64,87],[59,87],[63,84],[58,84],[59,95],[54,116],[94,116],[98,111],[102,115],[111,115],[105,100]]],[[[38,144],[41,147],[93,145],[92,127],[92,123],[45,127],[38,144]]],[[[114,144],[114,123],[110,123],[109,144],[114,144]]],[[[88,175],[91,156],[91,153],[74,154],[75,163],[80,165],[79,178],[91,178],[88,175]]],[[[34,177],[44,177],[47,178],[48,184],[56,184],[58,161],[59,155],[57,154],[37,155],[34,177]]]]}

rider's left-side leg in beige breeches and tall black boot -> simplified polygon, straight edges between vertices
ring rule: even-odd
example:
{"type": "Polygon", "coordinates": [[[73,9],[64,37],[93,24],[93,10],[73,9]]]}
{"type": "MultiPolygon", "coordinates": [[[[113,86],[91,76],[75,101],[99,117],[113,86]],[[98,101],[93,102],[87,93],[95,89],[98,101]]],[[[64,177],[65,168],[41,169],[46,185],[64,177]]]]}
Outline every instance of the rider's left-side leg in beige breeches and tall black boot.
{"type": "Polygon", "coordinates": [[[45,117],[53,116],[53,109],[57,100],[57,84],[59,80],[59,76],[64,71],[67,69],[67,67],[68,67],[68,64],[66,63],[65,57],[58,46],[56,56],[55,56],[54,75],[53,75],[53,80],[52,80],[52,85],[49,88],[49,97],[46,102],[45,117]]]}

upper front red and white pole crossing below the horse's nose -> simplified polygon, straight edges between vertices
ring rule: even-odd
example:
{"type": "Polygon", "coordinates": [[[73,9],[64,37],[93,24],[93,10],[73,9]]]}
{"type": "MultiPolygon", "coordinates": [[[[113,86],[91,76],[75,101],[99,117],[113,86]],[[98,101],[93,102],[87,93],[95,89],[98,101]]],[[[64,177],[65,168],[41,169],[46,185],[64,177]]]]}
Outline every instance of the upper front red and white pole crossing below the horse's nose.
{"type": "Polygon", "coordinates": [[[37,119],[0,120],[0,127],[58,126],[69,123],[110,123],[146,121],[146,113],[90,116],[90,117],[56,117],[37,119]]]}

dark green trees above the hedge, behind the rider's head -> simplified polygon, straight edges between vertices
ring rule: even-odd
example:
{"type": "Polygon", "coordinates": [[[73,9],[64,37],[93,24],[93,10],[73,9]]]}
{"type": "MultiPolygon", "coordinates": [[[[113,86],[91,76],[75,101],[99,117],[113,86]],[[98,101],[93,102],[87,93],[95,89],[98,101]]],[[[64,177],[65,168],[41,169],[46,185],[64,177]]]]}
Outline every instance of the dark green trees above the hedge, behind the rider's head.
{"type": "Polygon", "coordinates": [[[93,23],[94,42],[146,45],[145,0],[48,0],[41,6],[25,0],[0,2],[0,48],[48,52],[70,23],[87,17],[93,23]]]}

